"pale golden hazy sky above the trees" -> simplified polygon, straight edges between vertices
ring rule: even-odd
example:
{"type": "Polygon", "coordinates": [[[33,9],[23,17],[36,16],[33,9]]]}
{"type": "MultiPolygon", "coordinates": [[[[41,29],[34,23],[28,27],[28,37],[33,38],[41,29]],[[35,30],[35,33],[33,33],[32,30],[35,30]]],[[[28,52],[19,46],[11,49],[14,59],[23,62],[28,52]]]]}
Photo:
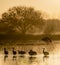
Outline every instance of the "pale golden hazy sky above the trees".
{"type": "Polygon", "coordinates": [[[60,18],[60,0],[0,0],[0,15],[10,7],[20,5],[46,12],[51,18],[60,18]]]}

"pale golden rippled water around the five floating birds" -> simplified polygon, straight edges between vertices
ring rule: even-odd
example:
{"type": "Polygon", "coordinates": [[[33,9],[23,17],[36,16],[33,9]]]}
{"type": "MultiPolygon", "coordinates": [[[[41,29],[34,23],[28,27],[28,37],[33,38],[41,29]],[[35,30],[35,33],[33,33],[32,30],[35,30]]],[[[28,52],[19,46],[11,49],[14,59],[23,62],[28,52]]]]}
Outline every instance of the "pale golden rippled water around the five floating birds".
{"type": "Polygon", "coordinates": [[[60,65],[60,41],[53,41],[48,45],[0,45],[0,65],[60,65]],[[8,56],[4,55],[4,47],[9,51],[8,56]],[[17,52],[14,56],[13,47],[17,52]],[[43,48],[49,52],[49,56],[43,55],[43,48]],[[36,51],[37,55],[31,57],[28,54],[30,49],[36,51]],[[18,50],[24,50],[26,54],[21,56],[18,54],[18,50]]]}

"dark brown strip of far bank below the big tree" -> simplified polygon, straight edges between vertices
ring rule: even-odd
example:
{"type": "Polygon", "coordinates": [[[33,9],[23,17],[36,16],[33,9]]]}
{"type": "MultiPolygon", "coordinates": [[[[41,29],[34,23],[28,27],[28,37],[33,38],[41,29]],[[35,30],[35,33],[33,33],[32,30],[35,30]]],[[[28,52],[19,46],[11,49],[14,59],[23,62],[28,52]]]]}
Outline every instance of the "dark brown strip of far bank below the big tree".
{"type": "Polygon", "coordinates": [[[60,40],[60,35],[0,35],[0,40],[42,40],[44,37],[49,37],[51,40],[60,40]]]}

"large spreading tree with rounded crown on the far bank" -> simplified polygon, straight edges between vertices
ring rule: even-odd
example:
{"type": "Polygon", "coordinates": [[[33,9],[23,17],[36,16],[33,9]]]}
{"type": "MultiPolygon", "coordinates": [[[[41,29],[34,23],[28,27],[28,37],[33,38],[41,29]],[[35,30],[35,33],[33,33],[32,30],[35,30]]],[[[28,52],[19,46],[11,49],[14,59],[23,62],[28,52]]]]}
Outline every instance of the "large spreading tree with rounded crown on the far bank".
{"type": "MultiPolygon", "coordinates": [[[[9,30],[17,30],[22,34],[33,30],[35,27],[42,27],[43,17],[41,12],[31,7],[13,7],[2,14],[1,21],[7,25],[9,30]]],[[[8,32],[10,32],[8,30],[8,32]]]]}

